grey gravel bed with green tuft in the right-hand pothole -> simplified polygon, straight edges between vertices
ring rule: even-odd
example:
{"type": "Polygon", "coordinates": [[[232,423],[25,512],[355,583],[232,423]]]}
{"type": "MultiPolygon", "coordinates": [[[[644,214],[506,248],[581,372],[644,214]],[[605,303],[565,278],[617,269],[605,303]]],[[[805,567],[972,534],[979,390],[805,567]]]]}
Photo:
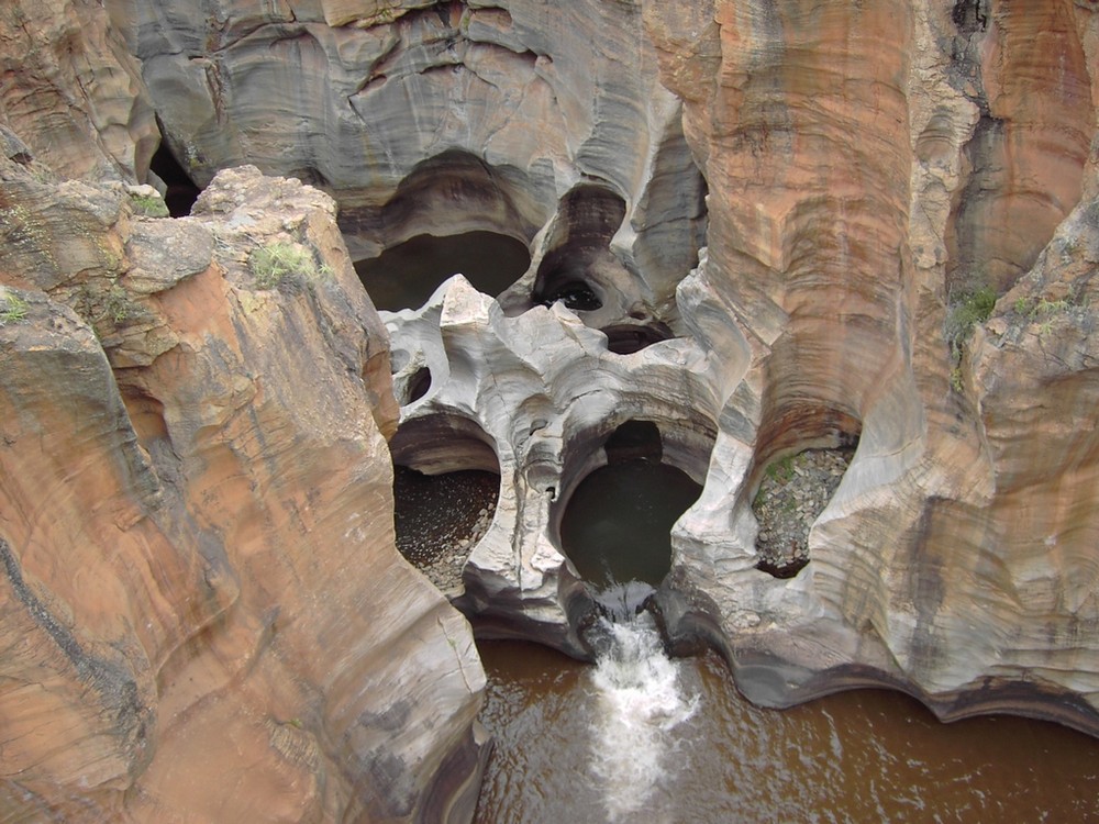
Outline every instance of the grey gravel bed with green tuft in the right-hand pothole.
{"type": "Polygon", "coordinates": [[[806,449],[764,472],[752,511],[759,522],[757,569],[791,578],[809,563],[809,531],[854,456],[854,449],[806,449]]]}

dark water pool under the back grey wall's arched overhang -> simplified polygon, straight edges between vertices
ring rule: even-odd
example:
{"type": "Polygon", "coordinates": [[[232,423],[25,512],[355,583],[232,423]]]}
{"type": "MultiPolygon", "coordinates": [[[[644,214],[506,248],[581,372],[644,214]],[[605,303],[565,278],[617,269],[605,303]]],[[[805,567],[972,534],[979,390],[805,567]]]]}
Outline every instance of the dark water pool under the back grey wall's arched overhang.
{"type": "Polygon", "coordinates": [[[526,244],[496,232],[417,235],[380,256],[355,264],[355,271],[377,309],[419,309],[435,289],[460,272],[478,291],[493,298],[526,271],[526,244]]]}

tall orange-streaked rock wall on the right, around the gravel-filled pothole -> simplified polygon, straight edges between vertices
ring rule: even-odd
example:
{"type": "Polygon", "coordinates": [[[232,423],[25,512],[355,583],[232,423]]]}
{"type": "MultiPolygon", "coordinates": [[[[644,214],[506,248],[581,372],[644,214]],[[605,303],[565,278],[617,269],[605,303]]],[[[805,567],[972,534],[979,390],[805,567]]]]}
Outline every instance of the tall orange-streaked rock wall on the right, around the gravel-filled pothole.
{"type": "Polygon", "coordinates": [[[656,4],[647,19],[711,192],[741,194],[710,204],[704,275],[754,353],[715,464],[758,471],[770,449],[861,430],[790,582],[745,569],[713,588],[707,570],[744,558],[744,538],[717,554],[690,539],[730,510],[751,539],[751,471],[685,519],[684,580],[718,593],[742,688],[784,704],[879,681],[944,715],[1007,708],[1094,730],[1078,633],[1099,615],[1077,586],[1095,563],[1094,493],[1076,486],[1092,427],[1068,411],[1095,380],[1090,196],[1073,212],[1094,177],[1094,12],[714,3],[698,21],[656,4]],[[989,322],[1001,334],[963,344],[980,354],[951,372],[959,296],[1003,294],[1035,256],[989,322]],[[1033,364],[1008,367],[1020,348],[1033,364]]]}

